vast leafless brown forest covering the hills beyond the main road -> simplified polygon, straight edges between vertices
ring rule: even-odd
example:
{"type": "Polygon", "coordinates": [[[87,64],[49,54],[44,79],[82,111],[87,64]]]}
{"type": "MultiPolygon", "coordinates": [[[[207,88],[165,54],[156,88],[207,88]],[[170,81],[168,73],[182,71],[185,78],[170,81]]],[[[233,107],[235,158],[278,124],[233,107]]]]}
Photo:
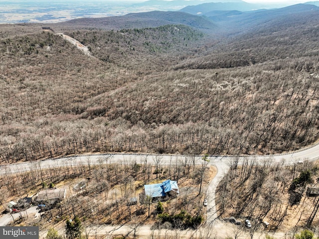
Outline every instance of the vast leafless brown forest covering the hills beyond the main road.
{"type": "Polygon", "coordinates": [[[319,27],[306,19],[231,38],[186,25],[63,31],[92,57],[54,25],[0,25],[1,162],[310,145],[319,133],[319,27]]]}

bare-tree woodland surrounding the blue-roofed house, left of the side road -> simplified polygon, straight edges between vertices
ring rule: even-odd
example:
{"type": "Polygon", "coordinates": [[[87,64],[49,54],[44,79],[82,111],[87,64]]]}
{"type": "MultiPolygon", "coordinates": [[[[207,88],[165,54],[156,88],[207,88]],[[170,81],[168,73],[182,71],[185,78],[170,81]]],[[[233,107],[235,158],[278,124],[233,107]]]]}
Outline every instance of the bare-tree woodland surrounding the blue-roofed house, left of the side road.
{"type": "MultiPolygon", "coordinates": [[[[202,194],[206,193],[204,189],[214,172],[207,167],[207,162],[195,166],[194,157],[184,160],[172,157],[171,165],[165,166],[161,156],[145,156],[140,162],[122,161],[119,164],[109,164],[107,160],[105,157],[98,165],[83,163],[74,166],[71,163],[48,170],[34,166],[29,172],[21,170],[15,175],[8,172],[0,179],[0,205],[6,205],[11,197],[22,197],[54,185],[65,189],[67,197],[41,215],[36,222],[41,230],[46,229],[48,221],[51,222],[52,219],[52,224],[60,227],[62,222],[72,217],[81,218],[84,231],[87,228],[98,230],[99,225],[140,225],[142,222],[153,224],[159,221],[157,215],[160,213],[178,215],[180,212],[187,212],[193,217],[203,217],[205,207],[202,194]],[[152,162],[156,164],[152,165],[152,162]],[[167,178],[178,182],[180,194],[178,197],[171,195],[162,199],[164,209],[157,212],[156,204],[160,199],[147,198],[143,191],[144,185],[162,182],[167,178]],[[77,189],[78,185],[84,185],[83,189],[77,189]],[[131,204],[132,198],[139,198],[140,203],[131,204]]],[[[90,162],[90,157],[87,162],[90,162]]],[[[49,204],[49,200],[45,203],[49,204]]],[[[20,221],[17,220],[13,225],[17,223],[20,221]]],[[[34,222],[28,219],[24,219],[23,223],[34,226],[34,222]]],[[[169,223],[165,225],[172,227],[169,223]]]]}

